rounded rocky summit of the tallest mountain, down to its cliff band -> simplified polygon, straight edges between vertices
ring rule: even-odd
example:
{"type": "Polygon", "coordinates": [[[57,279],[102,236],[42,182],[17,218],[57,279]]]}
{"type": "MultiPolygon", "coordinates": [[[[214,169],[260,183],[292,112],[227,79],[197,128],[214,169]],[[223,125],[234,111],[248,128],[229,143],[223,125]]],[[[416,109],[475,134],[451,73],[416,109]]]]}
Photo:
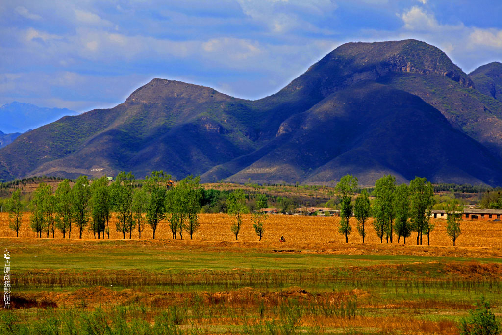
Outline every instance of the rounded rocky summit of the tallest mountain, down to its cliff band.
{"type": "Polygon", "coordinates": [[[441,49],[409,39],[342,44],[293,80],[282,93],[326,97],[357,82],[378,81],[391,73],[441,75],[464,87],[474,87],[469,76],[441,49]]]}

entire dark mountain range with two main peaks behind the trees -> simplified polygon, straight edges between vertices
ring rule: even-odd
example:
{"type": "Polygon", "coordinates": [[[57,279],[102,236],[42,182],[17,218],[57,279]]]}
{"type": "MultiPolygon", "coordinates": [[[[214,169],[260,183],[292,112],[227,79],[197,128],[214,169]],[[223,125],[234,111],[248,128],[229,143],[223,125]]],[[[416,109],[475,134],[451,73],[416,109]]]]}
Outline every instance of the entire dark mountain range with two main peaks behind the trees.
{"type": "Polygon", "coordinates": [[[110,109],[0,149],[0,179],[164,170],[203,181],[323,184],[346,173],[502,185],[502,64],[464,73],[417,40],[346,43],[279,92],[235,98],[154,79],[110,109]]]}

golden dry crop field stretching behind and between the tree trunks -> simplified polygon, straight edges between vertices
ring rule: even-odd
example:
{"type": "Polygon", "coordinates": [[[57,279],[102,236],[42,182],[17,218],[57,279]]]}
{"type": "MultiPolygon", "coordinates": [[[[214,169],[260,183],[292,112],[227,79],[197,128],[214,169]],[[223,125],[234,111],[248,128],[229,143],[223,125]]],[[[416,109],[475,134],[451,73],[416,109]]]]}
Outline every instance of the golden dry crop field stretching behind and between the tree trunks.
{"type": "MultiPolygon", "coordinates": [[[[279,242],[281,236],[286,238],[288,243],[315,243],[330,244],[344,243],[344,236],[338,234],[337,225],[340,218],[337,216],[301,216],[301,215],[269,215],[265,221],[265,234],[262,239],[264,244],[270,242],[279,242]]],[[[199,214],[200,228],[194,234],[196,241],[234,241],[235,237],[230,231],[232,217],[227,214],[199,214]]],[[[115,231],[116,217],[109,222],[110,239],[122,239],[122,234],[115,231]]],[[[352,225],[352,234],[349,235],[349,245],[359,245],[362,243],[360,236],[355,229],[356,219],[350,219],[352,225]]],[[[431,246],[451,246],[452,242],[446,235],[446,220],[433,219],[435,229],[430,236],[431,246]]],[[[379,244],[380,240],[376,237],[371,226],[371,218],[366,224],[367,236],[366,244],[379,244]]],[[[476,247],[476,248],[502,248],[502,222],[493,221],[462,221],[462,235],[456,242],[457,247],[476,247]]],[[[45,234],[43,235],[46,236],[45,234]]],[[[0,213],[0,237],[16,237],[16,233],[9,229],[9,216],[7,213],[0,213]]],[[[20,231],[20,238],[35,238],[36,233],[30,228],[30,213],[24,213],[23,223],[20,231]]],[[[78,238],[78,230],[72,228],[72,239],[78,238]]],[[[132,238],[138,239],[137,231],[133,231],[132,238]]],[[[50,236],[52,238],[52,235],[50,236]]],[[[56,230],[56,239],[61,239],[62,234],[56,230]]],[[[83,239],[94,239],[92,232],[85,230],[82,234],[83,239]]],[[[129,236],[126,236],[129,239],[129,236]]],[[[152,229],[145,225],[142,233],[142,239],[152,239],[152,229]]],[[[161,221],[156,232],[156,239],[171,240],[172,234],[166,220],[161,221]]],[[[177,236],[179,239],[179,235],[177,236]]],[[[183,239],[190,239],[187,232],[183,233],[183,239]]],[[[258,237],[253,229],[253,222],[250,215],[244,215],[241,231],[238,236],[239,241],[256,242],[258,237]]],[[[413,233],[407,239],[407,245],[416,245],[416,233],[413,233]]],[[[385,244],[384,239],[384,244],[385,244]]],[[[394,243],[397,238],[394,237],[394,243]]],[[[424,235],[422,243],[427,244],[427,236],[424,235]]],[[[400,244],[403,244],[401,239],[400,244]]]]}

